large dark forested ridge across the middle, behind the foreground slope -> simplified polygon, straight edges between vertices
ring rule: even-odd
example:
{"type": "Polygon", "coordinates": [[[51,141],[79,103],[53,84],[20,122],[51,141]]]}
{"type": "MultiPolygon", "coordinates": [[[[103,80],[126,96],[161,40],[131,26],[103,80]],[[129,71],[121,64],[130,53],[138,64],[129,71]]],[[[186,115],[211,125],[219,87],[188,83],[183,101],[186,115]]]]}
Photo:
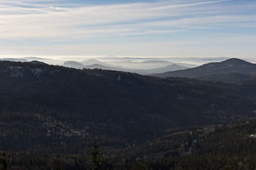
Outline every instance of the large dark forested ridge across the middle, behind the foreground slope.
{"type": "Polygon", "coordinates": [[[255,84],[0,62],[0,143],[77,153],[96,135],[103,147],[137,145],[167,128],[255,116],[255,84]]]}

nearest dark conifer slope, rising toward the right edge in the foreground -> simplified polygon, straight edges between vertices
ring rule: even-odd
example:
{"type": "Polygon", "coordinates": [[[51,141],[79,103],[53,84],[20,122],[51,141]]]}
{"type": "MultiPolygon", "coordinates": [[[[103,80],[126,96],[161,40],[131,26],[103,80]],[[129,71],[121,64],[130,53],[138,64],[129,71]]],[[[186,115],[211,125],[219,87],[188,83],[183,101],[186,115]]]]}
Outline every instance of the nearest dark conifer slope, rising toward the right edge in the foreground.
{"type": "Polygon", "coordinates": [[[255,169],[256,119],[204,127],[175,128],[126,149],[126,159],[108,159],[114,169],[255,169]],[[127,160],[127,158],[129,158],[127,160]],[[126,166],[125,166],[126,165],[126,166]],[[128,168],[127,168],[128,167],[128,168]]]}

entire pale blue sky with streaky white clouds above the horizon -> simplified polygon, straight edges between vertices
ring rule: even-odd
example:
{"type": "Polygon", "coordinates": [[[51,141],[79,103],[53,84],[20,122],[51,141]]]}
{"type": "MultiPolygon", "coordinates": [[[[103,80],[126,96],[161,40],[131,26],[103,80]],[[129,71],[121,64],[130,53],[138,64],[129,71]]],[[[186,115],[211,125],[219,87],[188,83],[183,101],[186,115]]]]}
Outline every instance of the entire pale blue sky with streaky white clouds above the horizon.
{"type": "Polygon", "coordinates": [[[0,57],[256,60],[255,0],[0,0],[0,57]]]}

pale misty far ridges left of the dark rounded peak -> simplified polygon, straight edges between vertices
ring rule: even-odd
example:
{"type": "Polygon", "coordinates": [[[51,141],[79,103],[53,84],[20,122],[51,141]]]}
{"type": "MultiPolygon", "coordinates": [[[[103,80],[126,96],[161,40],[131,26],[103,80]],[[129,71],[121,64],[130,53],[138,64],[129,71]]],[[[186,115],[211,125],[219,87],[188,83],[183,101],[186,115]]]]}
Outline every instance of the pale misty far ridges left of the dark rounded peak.
{"type": "MultiPolygon", "coordinates": [[[[59,60],[46,59],[41,57],[23,57],[23,58],[2,58],[2,61],[30,62],[33,60],[46,62],[47,64],[63,65],[76,69],[109,69],[122,72],[135,72],[138,74],[155,74],[171,72],[178,69],[187,69],[196,67],[196,64],[186,62],[171,62],[170,58],[132,58],[132,57],[115,57],[107,56],[97,59],[78,58],[70,60],[63,58],[59,60]]],[[[175,58],[174,58],[175,60],[175,58]]]]}

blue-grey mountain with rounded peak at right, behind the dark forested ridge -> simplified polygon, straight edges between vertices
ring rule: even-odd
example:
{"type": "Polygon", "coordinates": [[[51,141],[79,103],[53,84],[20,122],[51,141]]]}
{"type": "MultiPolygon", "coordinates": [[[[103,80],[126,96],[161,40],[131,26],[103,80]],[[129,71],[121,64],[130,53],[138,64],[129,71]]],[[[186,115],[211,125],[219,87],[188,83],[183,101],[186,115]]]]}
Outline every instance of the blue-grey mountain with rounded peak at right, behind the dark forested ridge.
{"type": "Polygon", "coordinates": [[[210,62],[199,67],[154,74],[156,77],[188,77],[211,81],[241,81],[255,79],[256,64],[237,58],[210,62]]]}

